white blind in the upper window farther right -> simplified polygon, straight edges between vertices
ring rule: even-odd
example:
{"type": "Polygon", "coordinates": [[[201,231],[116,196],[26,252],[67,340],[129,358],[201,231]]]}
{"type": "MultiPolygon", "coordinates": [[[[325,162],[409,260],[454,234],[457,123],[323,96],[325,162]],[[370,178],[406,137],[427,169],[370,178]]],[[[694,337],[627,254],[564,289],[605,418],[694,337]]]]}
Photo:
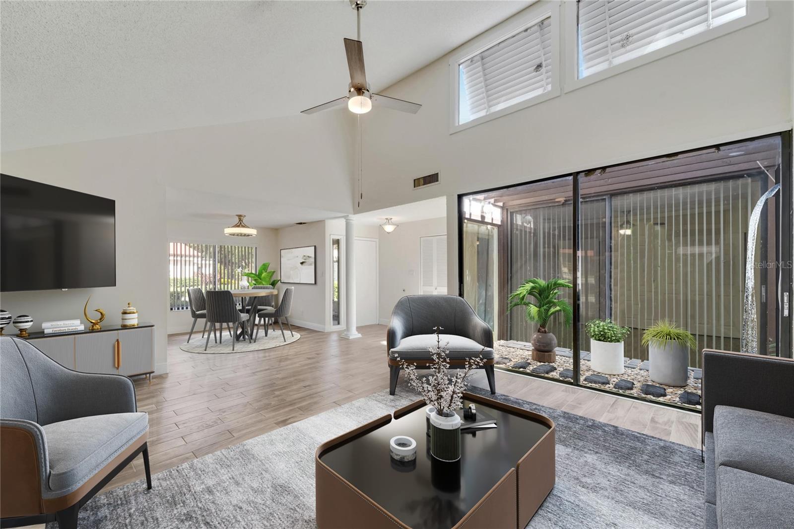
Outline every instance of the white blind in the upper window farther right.
{"type": "Polygon", "coordinates": [[[747,14],[746,0],[579,0],[579,78],[747,14]]]}

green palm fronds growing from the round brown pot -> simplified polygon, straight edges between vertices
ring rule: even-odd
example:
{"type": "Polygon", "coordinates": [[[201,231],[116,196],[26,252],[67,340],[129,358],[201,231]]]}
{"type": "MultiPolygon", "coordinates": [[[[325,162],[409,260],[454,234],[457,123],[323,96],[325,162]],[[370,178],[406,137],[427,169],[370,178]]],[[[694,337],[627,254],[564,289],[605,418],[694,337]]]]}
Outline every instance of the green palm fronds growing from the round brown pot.
{"type": "Polygon", "coordinates": [[[549,332],[546,326],[553,315],[561,314],[565,325],[570,325],[573,309],[565,299],[559,299],[561,288],[573,288],[573,285],[558,278],[526,280],[507,298],[507,312],[515,307],[526,307],[526,320],[537,323],[539,333],[549,332]]]}

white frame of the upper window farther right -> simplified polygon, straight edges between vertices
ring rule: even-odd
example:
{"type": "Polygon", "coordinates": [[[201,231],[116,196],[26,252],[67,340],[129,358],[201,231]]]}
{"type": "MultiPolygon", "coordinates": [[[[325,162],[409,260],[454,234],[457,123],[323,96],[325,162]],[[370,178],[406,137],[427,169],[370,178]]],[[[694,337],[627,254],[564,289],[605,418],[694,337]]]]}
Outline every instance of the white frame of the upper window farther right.
{"type": "Polygon", "coordinates": [[[565,2],[565,87],[567,94],[577,88],[586,87],[592,83],[598,83],[603,79],[608,79],[613,75],[621,74],[624,71],[652,63],[667,56],[671,56],[685,49],[694,48],[699,44],[711,41],[715,38],[723,37],[728,33],[733,33],[739,29],[744,29],[757,22],[765,21],[769,18],[765,0],[747,0],[747,14],[735,20],[728,21],[723,25],[707,29],[701,33],[696,33],[692,37],[686,37],[681,41],[673,42],[663,48],[658,48],[634,59],[626,60],[620,64],[615,64],[601,71],[596,71],[591,75],[579,78],[579,2],[571,0],[565,2]]]}

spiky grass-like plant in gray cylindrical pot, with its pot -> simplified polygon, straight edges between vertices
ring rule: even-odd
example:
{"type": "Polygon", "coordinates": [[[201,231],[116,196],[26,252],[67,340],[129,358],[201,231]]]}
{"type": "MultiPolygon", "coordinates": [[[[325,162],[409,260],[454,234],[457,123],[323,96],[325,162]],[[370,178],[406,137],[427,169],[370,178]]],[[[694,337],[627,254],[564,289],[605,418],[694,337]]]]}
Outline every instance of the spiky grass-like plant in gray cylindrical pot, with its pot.
{"type": "Polygon", "coordinates": [[[692,333],[662,319],[642,333],[642,345],[648,347],[650,380],[665,386],[687,385],[689,351],[697,349],[692,333]]]}

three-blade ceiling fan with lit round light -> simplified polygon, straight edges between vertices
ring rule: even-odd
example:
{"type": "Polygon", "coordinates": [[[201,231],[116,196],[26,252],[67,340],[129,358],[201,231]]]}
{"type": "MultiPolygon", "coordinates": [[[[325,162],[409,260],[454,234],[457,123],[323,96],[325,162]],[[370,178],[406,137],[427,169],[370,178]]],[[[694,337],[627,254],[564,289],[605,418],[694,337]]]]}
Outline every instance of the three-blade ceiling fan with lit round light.
{"type": "Polygon", "coordinates": [[[372,110],[372,106],[385,106],[400,112],[416,114],[422,105],[402,99],[390,98],[386,95],[372,94],[367,83],[367,76],[364,75],[364,48],[361,45],[361,10],[367,5],[367,0],[350,0],[350,6],[356,10],[357,40],[345,39],[345,53],[350,69],[350,84],[348,85],[348,95],[344,98],[334,99],[322,105],[312,106],[303,110],[301,114],[314,114],[322,110],[328,110],[336,106],[347,103],[348,110],[355,114],[366,114],[372,110]]]}

